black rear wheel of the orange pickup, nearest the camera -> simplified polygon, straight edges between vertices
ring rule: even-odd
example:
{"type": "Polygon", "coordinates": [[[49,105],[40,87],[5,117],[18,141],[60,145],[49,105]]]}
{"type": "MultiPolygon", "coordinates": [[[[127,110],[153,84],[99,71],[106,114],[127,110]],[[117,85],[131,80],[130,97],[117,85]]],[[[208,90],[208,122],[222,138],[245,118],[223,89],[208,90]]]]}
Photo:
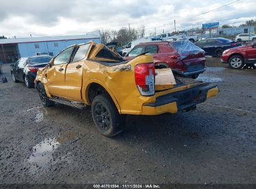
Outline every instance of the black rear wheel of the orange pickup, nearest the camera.
{"type": "Polygon", "coordinates": [[[108,94],[100,94],[92,101],[92,118],[100,134],[113,137],[125,127],[125,116],[118,113],[108,94]]]}

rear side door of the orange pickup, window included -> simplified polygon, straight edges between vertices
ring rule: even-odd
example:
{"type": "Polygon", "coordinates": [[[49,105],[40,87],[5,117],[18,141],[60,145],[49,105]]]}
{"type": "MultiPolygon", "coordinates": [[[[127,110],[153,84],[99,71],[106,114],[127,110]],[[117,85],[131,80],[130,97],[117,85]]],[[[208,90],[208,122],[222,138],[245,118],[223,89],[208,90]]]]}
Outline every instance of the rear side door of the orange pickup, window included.
{"type": "Polygon", "coordinates": [[[65,96],[75,101],[82,100],[82,78],[84,59],[90,44],[79,45],[65,71],[65,96]]]}

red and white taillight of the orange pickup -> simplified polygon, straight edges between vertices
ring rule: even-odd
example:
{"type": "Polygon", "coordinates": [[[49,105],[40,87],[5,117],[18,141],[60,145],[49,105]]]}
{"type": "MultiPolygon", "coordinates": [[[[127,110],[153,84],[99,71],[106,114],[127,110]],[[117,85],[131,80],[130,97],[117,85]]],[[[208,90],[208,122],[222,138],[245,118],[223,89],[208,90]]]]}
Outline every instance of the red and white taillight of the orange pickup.
{"type": "Polygon", "coordinates": [[[154,63],[141,63],[135,66],[135,83],[143,96],[154,94],[154,63]]]}

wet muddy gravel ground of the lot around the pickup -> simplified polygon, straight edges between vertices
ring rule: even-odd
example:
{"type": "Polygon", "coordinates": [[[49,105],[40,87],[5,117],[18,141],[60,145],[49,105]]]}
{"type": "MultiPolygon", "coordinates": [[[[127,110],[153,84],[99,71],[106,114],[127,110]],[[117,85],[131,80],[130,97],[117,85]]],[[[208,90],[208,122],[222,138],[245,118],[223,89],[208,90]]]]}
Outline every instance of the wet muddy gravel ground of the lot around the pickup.
{"type": "Polygon", "coordinates": [[[256,183],[256,70],[208,67],[219,96],[195,111],[128,116],[108,139],[90,108],[44,108],[37,91],[0,84],[0,183],[256,183]]]}

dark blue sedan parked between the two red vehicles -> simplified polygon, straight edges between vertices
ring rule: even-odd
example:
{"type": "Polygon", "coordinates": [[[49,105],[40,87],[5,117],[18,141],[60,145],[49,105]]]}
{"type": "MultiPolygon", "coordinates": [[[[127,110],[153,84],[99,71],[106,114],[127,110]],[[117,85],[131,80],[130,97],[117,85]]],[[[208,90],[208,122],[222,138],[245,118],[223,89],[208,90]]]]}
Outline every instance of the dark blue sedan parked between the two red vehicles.
{"type": "Polygon", "coordinates": [[[212,57],[221,57],[224,50],[240,46],[240,42],[234,42],[229,39],[222,37],[204,39],[199,42],[196,42],[195,45],[202,48],[206,53],[212,57]]]}

